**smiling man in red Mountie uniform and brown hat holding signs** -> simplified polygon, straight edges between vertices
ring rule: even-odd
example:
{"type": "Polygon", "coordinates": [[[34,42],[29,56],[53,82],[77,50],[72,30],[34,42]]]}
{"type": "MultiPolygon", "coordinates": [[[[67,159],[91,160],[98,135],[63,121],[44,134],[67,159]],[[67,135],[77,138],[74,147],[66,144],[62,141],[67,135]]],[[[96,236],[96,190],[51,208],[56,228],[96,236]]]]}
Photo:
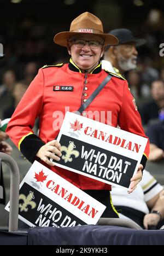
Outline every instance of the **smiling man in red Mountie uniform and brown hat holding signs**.
{"type": "MultiPolygon", "coordinates": [[[[11,118],[7,133],[22,154],[33,162],[35,159],[51,168],[67,181],[84,190],[107,206],[103,217],[118,217],[110,199],[110,185],[83,175],[54,166],[49,158],[60,160],[60,143],[54,140],[58,130],[54,126],[55,113],[65,115],[78,110],[93,91],[107,77],[99,59],[107,44],[118,44],[118,39],[103,33],[101,20],[90,13],[83,13],[72,21],[69,32],[56,34],[54,42],[66,46],[71,60],[57,66],[44,66],[27,89],[11,118]],[[39,136],[34,135],[32,127],[39,117],[39,136]],[[54,129],[55,128],[55,129],[54,129]],[[55,154],[54,154],[55,153],[55,154]]],[[[134,105],[133,96],[125,79],[111,74],[112,79],[94,98],[86,111],[99,113],[112,112],[112,126],[144,136],[140,116],[134,105]]],[[[85,116],[86,112],[83,112],[85,116]]],[[[105,120],[107,124],[107,117],[105,120]]],[[[149,144],[145,149],[136,176],[131,179],[131,193],[140,179],[142,168],[149,155],[149,144]]]]}

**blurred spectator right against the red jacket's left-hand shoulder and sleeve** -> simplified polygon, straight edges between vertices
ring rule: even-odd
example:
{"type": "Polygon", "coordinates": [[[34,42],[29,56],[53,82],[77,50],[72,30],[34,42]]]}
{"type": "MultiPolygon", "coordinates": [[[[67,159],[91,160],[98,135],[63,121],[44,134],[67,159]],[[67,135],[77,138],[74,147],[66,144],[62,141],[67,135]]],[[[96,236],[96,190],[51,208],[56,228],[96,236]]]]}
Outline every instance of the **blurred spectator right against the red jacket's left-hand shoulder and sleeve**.
{"type": "Polygon", "coordinates": [[[28,86],[26,84],[26,82],[24,81],[19,81],[15,84],[14,88],[13,88],[13,102],[11,103],[11,105],[4,109],[3,112],[3,118],[10,118],[11,115],[13,115],[15,108],[17,106],[17,104],[20,102],[21,98],[24,96],[26,90],[27,90],[28,86]]]}

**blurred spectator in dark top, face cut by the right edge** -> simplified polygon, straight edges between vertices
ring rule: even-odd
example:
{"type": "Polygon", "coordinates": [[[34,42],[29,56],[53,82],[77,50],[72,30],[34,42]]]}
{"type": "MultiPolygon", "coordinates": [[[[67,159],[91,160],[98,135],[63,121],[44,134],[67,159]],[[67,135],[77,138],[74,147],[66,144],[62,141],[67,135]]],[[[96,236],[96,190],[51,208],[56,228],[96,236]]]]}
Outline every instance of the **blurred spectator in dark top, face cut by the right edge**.
{"type": "Polygon", "coordinates": [[[151,84],[151,96],[153,100],[144,104],[139,112],[143,125],[149,124],[150,120],[159,119],[159,111],[164,108],[164,82],[156,80],[151,84]]]}

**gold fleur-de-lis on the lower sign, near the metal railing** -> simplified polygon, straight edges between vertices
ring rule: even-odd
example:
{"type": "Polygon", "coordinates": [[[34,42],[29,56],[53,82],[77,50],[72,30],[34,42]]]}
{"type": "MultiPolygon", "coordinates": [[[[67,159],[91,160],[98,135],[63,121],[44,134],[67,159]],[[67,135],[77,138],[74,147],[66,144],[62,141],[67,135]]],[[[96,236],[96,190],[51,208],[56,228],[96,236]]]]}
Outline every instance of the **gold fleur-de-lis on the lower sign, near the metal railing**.
{"type": "Polygon", "coordinates": [[[36,202],[31,201],[32,199],[34,199],[34,193],[32,191],[30,191],[30,194],[28,194],[27,197],[24,194],[21,194],[19,196],[19,200],[20,199],[24,200],[24,203],[19,203],[19,208],[21,212],[28,212],[27,205],[31,205],[31,209],[37,206],[36,202]]]}

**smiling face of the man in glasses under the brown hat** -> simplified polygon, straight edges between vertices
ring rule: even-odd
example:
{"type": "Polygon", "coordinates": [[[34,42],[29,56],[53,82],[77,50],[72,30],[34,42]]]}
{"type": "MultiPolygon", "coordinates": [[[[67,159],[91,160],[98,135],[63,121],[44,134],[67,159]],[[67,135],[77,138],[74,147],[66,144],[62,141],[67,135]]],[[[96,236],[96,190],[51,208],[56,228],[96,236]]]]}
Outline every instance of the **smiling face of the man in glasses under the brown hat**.
{"type": "Polygon", "coordinates": [[[77,36],[72,36],[68,39],[68,53],[72,56],[72,60],[82,72],[88,70],[89,72],[98,65],[99,59],[103,56],[104,48],[103,45],[104,39],[100,36],[95,36],[93,34],[79,34],[77,36]],[[74,40],[86,40],[86,41],[96,41],[99,44],[97,49],[92,49],[89,46],[89,43],[86,42],[81,47],[77,47],[74,40]]]}

